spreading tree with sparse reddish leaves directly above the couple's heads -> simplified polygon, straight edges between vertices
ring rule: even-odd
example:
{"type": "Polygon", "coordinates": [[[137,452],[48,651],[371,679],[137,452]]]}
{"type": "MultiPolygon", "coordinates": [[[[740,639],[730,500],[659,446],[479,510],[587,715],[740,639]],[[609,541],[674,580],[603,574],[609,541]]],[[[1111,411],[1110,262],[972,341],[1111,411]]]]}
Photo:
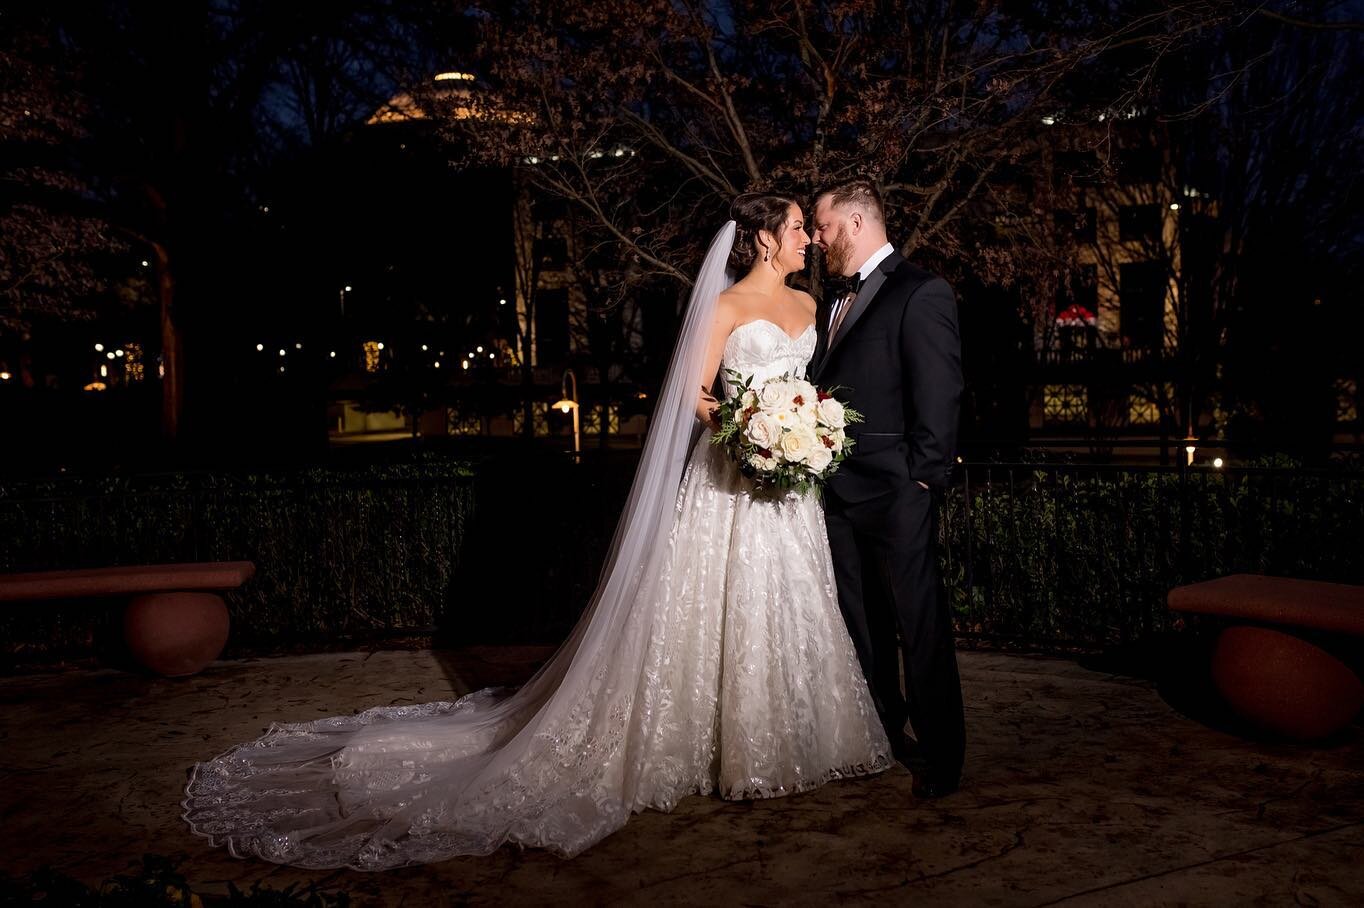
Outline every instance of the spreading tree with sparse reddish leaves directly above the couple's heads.
{"type": "Polygon", "coordinates": [[[1129,105],[1165,55],[1234,14],[1210,1],[477,10],[486,116],[450,130],[591,215],[640,279],[683,284],[698,225],[734,194],[807,195],[854,175],[884,187],[906,254],[949,274],[970,262],[986,282],[1054,284],[1038,267],[1060,259],[1049,234],[1000,229],[1013,202],[998,187],[1042,166],[1046,123],[1129,105]]]}

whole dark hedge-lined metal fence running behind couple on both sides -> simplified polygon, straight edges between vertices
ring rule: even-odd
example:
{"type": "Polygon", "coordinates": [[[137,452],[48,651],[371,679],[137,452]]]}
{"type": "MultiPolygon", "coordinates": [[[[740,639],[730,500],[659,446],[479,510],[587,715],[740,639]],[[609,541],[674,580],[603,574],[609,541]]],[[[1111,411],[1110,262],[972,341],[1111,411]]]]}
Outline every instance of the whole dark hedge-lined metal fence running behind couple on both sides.
{"type": "MultiPolygon", "coordinates": [[[[548,642],[596,585],[632,466],[490,464],[476,489],[449,465],[0,484],[0,571],[248,559],[233,646],[258,652],[435,630],[548,642]]],[[[1184,582],[1364,584],[1364,472],[973,462],[940,534],[962,637],[1094,649],[1169,630],[1184,582]]],[[[0,633],[11,656],[89,649],[91,609],[4,609],[0,633]]]]}

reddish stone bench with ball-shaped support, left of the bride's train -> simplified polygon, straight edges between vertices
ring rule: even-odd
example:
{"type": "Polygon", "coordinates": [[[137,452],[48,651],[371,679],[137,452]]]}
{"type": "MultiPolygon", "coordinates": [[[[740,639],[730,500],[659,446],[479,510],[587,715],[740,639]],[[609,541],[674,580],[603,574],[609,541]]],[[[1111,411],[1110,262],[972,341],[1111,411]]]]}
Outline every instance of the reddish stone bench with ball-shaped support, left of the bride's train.
{"type": "Polygon", "coordinates": [[[0,603],[119,599],[123,638],[158,675],[194,675],[228,642],[228,607],[217,593],[255,575],[251,562],[140,564],[0,574],[0,603]]]}

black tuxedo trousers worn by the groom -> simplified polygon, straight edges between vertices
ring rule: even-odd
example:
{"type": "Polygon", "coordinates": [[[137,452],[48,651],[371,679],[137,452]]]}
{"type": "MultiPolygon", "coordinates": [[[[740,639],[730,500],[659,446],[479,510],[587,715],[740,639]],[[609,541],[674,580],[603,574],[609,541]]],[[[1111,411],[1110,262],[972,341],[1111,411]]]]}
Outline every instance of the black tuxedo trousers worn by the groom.
{"type": "Polygon", "coordinates": [[[928,774],[956,784],[966,716],[952,616],[937,567],[937,495],[918,483],[847,503],[825,491],[839,608],[892,740],[914,728],[928,774]],[[896,630],[904,648],[904,687],[896,630]]]}

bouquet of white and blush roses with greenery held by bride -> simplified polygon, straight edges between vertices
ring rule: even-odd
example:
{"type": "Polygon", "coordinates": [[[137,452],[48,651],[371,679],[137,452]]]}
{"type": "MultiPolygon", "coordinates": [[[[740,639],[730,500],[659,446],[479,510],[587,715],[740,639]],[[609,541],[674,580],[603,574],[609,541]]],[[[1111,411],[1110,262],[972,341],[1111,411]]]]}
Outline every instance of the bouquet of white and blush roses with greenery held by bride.
{"type": "Polygon", "coordinates": [[[843,429],[862,414],[805,379],[780,375],[753,387],[753,378],[726,369],[735,391],[716,412],[711,436],[739,472],[761,489],[817,489],[853,450],[843,429]]]}

